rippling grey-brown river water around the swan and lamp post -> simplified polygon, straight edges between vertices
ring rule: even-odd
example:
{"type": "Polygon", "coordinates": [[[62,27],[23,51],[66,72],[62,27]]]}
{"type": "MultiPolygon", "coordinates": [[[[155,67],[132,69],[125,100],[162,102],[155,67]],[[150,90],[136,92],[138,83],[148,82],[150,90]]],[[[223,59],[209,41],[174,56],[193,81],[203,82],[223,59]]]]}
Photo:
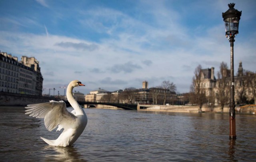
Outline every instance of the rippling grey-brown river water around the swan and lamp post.
{"type": "Polygon", "coordinates": [[[67,162],[249,162],[256,159],[256,116],[236,115],[236,140],[229,140],[228,114],[85,109],[88,124],[69,147],[42,119],[25,108],[0,108],[0,161],[67,162]]]}

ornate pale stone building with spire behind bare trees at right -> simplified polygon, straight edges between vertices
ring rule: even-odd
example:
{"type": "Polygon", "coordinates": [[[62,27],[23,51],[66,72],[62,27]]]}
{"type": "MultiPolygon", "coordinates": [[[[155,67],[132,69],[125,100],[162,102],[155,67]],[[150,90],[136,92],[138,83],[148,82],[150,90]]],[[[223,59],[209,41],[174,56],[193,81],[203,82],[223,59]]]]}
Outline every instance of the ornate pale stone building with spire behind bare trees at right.
{"type": "MultiPolygon", "coordinates": [[[[214,76],[214,68],[207,68],[201,70],[201,86],[200,88],[206,94],[208,105],[218,105],[219,101],[216,98],[219,94],[220,79],[214,76]]],[[[226,80],[226,90],[224,92],[230,96],[230,70],[226,69],[223,72],[223,77],[226,80]]],[[[234,76],[234,98],[236,104],[245,103],[246,100],[255,100],[255,86],[256,86],[255,73],[246,73],[242,68],[242,62],[239,63],[237,75],[234,76]],[[250,83],[249,83],[250,82],[250,83]]],[[[228,100],[229,102],[229,100],[228,100]]]]}

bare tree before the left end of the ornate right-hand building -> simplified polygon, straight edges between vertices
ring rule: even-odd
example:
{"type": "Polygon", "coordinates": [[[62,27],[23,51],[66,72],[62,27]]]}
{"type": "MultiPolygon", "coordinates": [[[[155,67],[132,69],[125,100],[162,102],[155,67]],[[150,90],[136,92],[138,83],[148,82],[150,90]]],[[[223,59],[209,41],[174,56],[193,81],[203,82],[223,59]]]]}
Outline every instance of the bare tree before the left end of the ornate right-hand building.
{"type": "Polygon", "coordinates": [[[206,103],[206,94],[204,92],[204,89],[202,87],[202,78],[201,75],[202,66],[198,65],[194,71],[194,76],[192,79],[192,85],[190,86],[190,92],[192,92],[191,99],[192,104],[197,104],[199,106],[199,112],[202,112],[202,106],[204,103],[206,103]]]}

